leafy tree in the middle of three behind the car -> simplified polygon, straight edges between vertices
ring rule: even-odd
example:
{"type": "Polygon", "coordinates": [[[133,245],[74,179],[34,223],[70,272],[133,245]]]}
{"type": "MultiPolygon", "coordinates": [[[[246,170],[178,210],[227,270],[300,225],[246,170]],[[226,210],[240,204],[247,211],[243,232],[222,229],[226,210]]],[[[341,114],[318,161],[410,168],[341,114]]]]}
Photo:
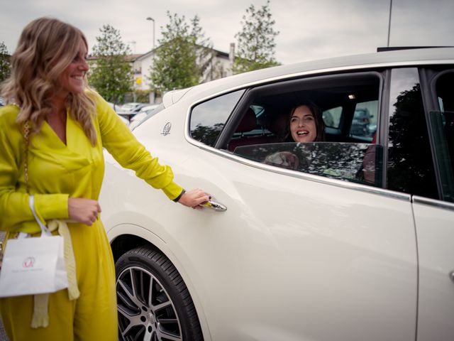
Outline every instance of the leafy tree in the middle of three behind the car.
{"type": "Polygon", "coordinates": [[[169,23],[162,29],[162,39],[154,51],[150,67],[150,87],[159,93],[199,84],[214,58],[209,38],[194,16],[191,24],[184,16],[167,11],[169,23]]]}

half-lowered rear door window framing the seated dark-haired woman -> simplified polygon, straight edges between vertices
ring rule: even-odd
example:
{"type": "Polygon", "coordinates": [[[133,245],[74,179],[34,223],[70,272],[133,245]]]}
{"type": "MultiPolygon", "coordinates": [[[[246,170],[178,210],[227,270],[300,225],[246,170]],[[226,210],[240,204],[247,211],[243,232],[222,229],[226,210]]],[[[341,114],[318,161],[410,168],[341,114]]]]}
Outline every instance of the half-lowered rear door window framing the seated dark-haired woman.
{"type": "Polygon", "coordinates": [[[226,149],[271,166],[381,187],[382,146],[372,144],[381,82],[379,73],[362,72],[250,90],[243,99],[248,107],[236,112],[238,121],[226,149]],[[293,141],[290,112],[304,102],[319,108],[326,139],[293,141]],[[362,120],[358,134],[352,134],[354,119],[362,120]]]}

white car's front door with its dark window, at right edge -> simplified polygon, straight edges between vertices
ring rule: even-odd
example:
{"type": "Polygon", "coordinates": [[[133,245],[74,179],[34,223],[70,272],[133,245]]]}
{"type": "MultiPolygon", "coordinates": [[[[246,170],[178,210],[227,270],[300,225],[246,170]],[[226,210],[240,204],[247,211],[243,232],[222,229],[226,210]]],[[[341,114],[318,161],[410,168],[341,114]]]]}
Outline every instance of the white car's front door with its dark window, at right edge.
{"type": "Polygon", "coordinates": [[[418,338],[454,335],[454,70],[423,72],[438,200],[413,198],[419,254],[418,338]]]}

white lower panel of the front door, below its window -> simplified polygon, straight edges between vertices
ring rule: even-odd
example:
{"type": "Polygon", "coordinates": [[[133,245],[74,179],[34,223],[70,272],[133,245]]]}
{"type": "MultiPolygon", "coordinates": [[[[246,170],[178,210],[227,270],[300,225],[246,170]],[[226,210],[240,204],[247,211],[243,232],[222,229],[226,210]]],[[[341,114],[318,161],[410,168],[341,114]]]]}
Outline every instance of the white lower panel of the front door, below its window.
{"type": "Polygon", "coordinates": [[[454,205],[414,203],[419,254],[418,341],[454,335],[454,205]]]}

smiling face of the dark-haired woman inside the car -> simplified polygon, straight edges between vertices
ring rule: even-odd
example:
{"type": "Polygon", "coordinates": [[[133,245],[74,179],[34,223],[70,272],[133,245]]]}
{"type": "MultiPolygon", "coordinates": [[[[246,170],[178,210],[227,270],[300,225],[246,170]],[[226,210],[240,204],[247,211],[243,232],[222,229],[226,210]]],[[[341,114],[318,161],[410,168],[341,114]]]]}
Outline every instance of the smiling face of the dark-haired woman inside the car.
{"type": "Polygon", "coordinates": [[[314,114],[306,105],[294,110],[290,117],[290,133],[295,142],[313,142],[317,138],[314,114]]]}

